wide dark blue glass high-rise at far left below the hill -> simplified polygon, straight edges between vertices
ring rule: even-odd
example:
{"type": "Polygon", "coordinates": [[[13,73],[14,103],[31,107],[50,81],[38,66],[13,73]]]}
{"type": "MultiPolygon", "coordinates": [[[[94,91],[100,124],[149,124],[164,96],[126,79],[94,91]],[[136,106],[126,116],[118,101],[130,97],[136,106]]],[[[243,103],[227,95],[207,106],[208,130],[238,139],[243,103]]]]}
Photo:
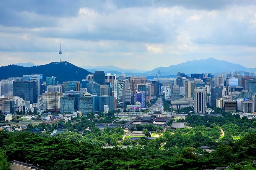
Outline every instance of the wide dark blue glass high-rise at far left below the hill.
{"type": "Polygon", "coordinates": [[[38,102],[37,82],[13,82],[13,96],[19,96],[30,103],[38,102]]]}

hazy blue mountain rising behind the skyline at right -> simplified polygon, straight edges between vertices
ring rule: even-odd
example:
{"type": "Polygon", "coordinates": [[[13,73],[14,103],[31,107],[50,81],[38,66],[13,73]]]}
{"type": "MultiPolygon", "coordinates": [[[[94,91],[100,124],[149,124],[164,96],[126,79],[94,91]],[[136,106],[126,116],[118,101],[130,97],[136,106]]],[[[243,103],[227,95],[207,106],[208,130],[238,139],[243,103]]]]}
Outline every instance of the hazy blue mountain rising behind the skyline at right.
{"type": "Polygon", "coordinates": [[[177,74],[177,72],[184,72],[185,74],[191,73],[217,73],[226,71],[254,71],[254,69],[241,66],[240,64],[234,64],[223,60],[214,58],[200,59],[187,61],[185,63],[171,65],[169,67],[158,67],[152,71],[144,72],[144,74],[153,75],[158,70],[161,71],[161,75],[177,74]]]}

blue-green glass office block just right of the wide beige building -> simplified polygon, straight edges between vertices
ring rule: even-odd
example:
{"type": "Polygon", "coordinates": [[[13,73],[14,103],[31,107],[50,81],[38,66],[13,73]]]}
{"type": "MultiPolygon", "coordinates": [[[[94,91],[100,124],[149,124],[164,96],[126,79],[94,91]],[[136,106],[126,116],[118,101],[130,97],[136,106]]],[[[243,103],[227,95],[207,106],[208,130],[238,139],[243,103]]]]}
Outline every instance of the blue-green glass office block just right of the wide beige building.
{"type": "Polygon", "coordinates": [[[75,112],[75,98],[64,95],[60,98],[60,112],[72,113],[75,112]]]}

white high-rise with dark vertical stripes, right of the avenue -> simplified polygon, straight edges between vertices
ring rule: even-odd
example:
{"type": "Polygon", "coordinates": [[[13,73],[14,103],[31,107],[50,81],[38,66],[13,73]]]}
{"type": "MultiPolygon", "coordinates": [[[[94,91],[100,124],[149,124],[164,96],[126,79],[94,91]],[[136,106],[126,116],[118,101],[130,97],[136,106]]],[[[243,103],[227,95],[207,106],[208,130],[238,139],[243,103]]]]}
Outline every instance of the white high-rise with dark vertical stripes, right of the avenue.
{"type": "Polygon", "coordinates": [[[205,90],[194,90],[194,110],[196,113],[205,113],[205,90]]]}

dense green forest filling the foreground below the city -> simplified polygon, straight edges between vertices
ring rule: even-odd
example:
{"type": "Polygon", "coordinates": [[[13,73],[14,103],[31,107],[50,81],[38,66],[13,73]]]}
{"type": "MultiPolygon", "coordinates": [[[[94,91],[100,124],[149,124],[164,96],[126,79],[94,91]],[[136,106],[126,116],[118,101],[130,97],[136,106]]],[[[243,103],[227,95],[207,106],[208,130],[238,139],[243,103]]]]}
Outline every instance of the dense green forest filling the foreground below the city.
{"type": "MultiPolygon", "coordinates": [[[[6,154],[9,161],[39,164],[46,170],[126,170],[128,166],[131,170],[199,170],[227,166],[256,169],[256,120],[224,113],[223,117],[188,115],[178,121],[185,121],[189,126],[174,132],[165,130],[155,140],[142,137],[137,143],[122,139],[122,128],[99,130],[85,117],[80,123],[64,123],[72,132],[54,137],[29,131],[2,132],[0,157],[6,154]],[[86,130],[87,127],[91,130],[86,130]],[[78,128],[84,130],[83,135],[77,133],[78,128]],[[239,138],[235,138],[237,136],[239,138]],[[130,147],[122,148],[123,145],[130,147]],[[201,146],[214,151],[206,152],[201,146]]],[[[51,130],[52,127],[44,128],[51,130]]],[[[150,130],[152,127],[139,128],[150,130]]]]}

